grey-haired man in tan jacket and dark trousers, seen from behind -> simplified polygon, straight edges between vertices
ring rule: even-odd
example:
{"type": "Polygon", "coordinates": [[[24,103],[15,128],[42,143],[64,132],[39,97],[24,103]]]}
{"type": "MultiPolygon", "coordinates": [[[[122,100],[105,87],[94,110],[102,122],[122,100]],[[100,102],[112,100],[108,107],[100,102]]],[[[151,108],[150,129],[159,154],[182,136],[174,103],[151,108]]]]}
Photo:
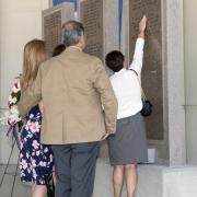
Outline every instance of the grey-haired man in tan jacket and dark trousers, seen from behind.
{"type": "Polygon", "coordinates": [[[22,93],[25,115],[43,101],[40,142],[53,144],[56,197],[91,197],[99,143],[116,129],[117,101],[104,66],[84,54],[83,25],[63,25],[67,49],[44,62],[32,86],[22,93]]]}

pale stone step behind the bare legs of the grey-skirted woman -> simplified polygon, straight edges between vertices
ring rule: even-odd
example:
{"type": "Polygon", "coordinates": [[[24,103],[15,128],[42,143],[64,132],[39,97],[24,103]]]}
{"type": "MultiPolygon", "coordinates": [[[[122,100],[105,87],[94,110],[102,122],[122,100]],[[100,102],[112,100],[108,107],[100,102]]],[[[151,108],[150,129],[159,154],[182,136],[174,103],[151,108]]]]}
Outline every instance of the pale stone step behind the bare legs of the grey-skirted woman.
{"type": "MultiPolygon", "coordinates": [[[[138,165],[138,190],[136,197],[162,197],[162,171],[165,166],[138,165]]],[[[112,171],[108,159],[99,159],[93,197],[113,197],[112,171]]],[[[123,189],[126,197],[126,188],[123,189]]]]}

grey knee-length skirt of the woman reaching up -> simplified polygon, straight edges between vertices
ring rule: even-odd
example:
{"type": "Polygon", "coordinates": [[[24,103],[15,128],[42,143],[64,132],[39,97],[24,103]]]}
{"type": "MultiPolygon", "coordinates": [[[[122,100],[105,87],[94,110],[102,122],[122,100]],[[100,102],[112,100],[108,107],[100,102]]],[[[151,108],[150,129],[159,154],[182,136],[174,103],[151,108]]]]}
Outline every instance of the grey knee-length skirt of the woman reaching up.
{"type": "Polygon", "coordinates": [[[146,126],[140,113],[117,120],[116,134],[107,139],[111,165],[148,161],[146,126]]]}

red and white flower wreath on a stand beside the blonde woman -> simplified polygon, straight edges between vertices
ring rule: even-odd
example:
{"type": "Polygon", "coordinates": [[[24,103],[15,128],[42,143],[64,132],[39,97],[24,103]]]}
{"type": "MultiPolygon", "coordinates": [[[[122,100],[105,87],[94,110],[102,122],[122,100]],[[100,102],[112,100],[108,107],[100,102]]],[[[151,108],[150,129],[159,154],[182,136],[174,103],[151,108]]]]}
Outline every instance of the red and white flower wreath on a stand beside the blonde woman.
{"type": "Polygon", "coordinates": [[[4,113],[4,116],[0,118],[2,125],[9,125],[9,130],[7,132],[7,136],[12,138],[15,138],[15,141],[18,143],[18,147],[20,148],[20,131],[21,127],[23,126],[22,117],[20,116],[19,109],[18,109],[18,103],[21,97],[21,85],[20,81],[15,83],[12,88],[11,94],[9,96],[9,111],[4,113]]]}

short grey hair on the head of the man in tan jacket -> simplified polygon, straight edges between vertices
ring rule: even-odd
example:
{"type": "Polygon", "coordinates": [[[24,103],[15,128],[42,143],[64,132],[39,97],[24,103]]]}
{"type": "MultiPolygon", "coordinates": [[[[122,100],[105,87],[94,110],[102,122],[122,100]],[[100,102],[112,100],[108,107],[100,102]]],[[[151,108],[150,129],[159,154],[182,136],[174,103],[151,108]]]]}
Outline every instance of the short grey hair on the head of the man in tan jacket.
{"type": "Polygon", "coordinates": [[[68,21],[62,25],[63,44],[68,46],[77,45],[80,36],[84,35],[83,24],[78,21],[68,21]]]}

